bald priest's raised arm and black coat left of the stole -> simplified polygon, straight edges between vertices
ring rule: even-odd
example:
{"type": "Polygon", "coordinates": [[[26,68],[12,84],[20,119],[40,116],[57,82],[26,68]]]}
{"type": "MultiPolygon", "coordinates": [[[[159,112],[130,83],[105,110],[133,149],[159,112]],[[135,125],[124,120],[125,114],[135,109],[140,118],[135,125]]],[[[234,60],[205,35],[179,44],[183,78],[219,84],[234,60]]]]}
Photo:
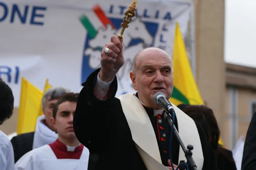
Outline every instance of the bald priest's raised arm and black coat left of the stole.
{"type": "Polygon", "coordinates": [[[74,131],[78,140],[90,151],[88,170],[106,168],[146,170],[136,150],[125,115],[122,114],[120,101],[115,98],[117,91],[115,73],[124,64],[122,43],[117,36],[113,36],[108,45],[107,54],[113,58],[102,50],[101,68],[91,73],[82,84],[84,87],[80,92],[74,115],[74,131]],[[114,41],[117,41],[115,43],[119,44],[119,48],[116,48],[114,41]],[[110,49],[111,47],[113,49],[110,49]],[[113,50],[120,55],[115,55],[113,50]],[[109,63],[106,60],[109,60],[107,61],[109,63]],[[105,69],[106,65],[111,68],[112,75],[105,69]]]}

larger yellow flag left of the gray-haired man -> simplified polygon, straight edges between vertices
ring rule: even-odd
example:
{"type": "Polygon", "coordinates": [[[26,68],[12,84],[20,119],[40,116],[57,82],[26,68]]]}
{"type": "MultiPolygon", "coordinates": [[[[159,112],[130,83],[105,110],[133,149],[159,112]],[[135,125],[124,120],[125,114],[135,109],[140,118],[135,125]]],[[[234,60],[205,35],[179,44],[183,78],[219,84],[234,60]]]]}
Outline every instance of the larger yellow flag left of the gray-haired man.
{"type": "Polygon", "coordinates": [[[35,131],[42,96],[43,92],[41,90],[24,77],[21,78],[17,134],[35,131]]]}

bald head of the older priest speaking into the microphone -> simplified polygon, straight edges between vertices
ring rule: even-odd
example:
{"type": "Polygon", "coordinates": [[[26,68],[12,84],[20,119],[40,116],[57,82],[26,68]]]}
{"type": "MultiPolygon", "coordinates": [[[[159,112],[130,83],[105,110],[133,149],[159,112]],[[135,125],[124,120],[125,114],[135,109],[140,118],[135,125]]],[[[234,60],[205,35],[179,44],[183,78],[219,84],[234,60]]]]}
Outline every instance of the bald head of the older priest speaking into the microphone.
{"type": "Polygon", "coordinates": [[[130,73],[134,90],[138,91],[139,99],[153,109],[161,109],[155,104],[153,97],[163,92],[166,99],[173,92],[173,64],[171,57],[158,48],[142,50],[135,62],[135,69],[130,73]]]}

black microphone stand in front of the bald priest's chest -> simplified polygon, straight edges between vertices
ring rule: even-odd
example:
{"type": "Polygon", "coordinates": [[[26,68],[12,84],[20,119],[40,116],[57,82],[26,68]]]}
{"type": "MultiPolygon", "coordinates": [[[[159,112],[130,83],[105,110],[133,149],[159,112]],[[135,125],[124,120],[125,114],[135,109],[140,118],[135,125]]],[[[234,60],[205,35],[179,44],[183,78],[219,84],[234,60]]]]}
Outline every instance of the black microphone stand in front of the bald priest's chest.
{"type": "MultiPolygon", "coordinates": [[[[188,167],[189,168],[191,167],[192,170],[197,170],[197,165],[195,164],[195,161],[192,157],[192,150],[194,149],[194,146],[187,145],[187,148],[186,148],[186,146],[182,142],[181,137],[179,136],[179,132],[177,131],[176,127],[173,124],[172,116],[170,115],[170,113],[166,112],[166,110],[165,110],[164,116],[165,116],[165,120],[170,124],[170,126],[173,125],[173,132],[174,132],[179,144],[181,145],[182,150],[184,151],[185,157],[187,159],[188,167]]],[[[180,161],[179,162],[179,170],[185,170],[185,169],[186,169],[185,161],[180,161]]]]}

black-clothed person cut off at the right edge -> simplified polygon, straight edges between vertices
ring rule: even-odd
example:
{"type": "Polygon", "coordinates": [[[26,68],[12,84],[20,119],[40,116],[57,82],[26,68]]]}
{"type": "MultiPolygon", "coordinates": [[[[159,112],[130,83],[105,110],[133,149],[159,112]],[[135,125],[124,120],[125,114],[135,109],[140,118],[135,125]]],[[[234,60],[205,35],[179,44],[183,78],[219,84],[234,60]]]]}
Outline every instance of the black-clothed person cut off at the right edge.
{"type": "Polygon", "coordinates": [[[243,147],[243,159],[241,170],[255,170],[256,169],[256,112],[251,118],[249,125],[245,145],[243,147]]]}

